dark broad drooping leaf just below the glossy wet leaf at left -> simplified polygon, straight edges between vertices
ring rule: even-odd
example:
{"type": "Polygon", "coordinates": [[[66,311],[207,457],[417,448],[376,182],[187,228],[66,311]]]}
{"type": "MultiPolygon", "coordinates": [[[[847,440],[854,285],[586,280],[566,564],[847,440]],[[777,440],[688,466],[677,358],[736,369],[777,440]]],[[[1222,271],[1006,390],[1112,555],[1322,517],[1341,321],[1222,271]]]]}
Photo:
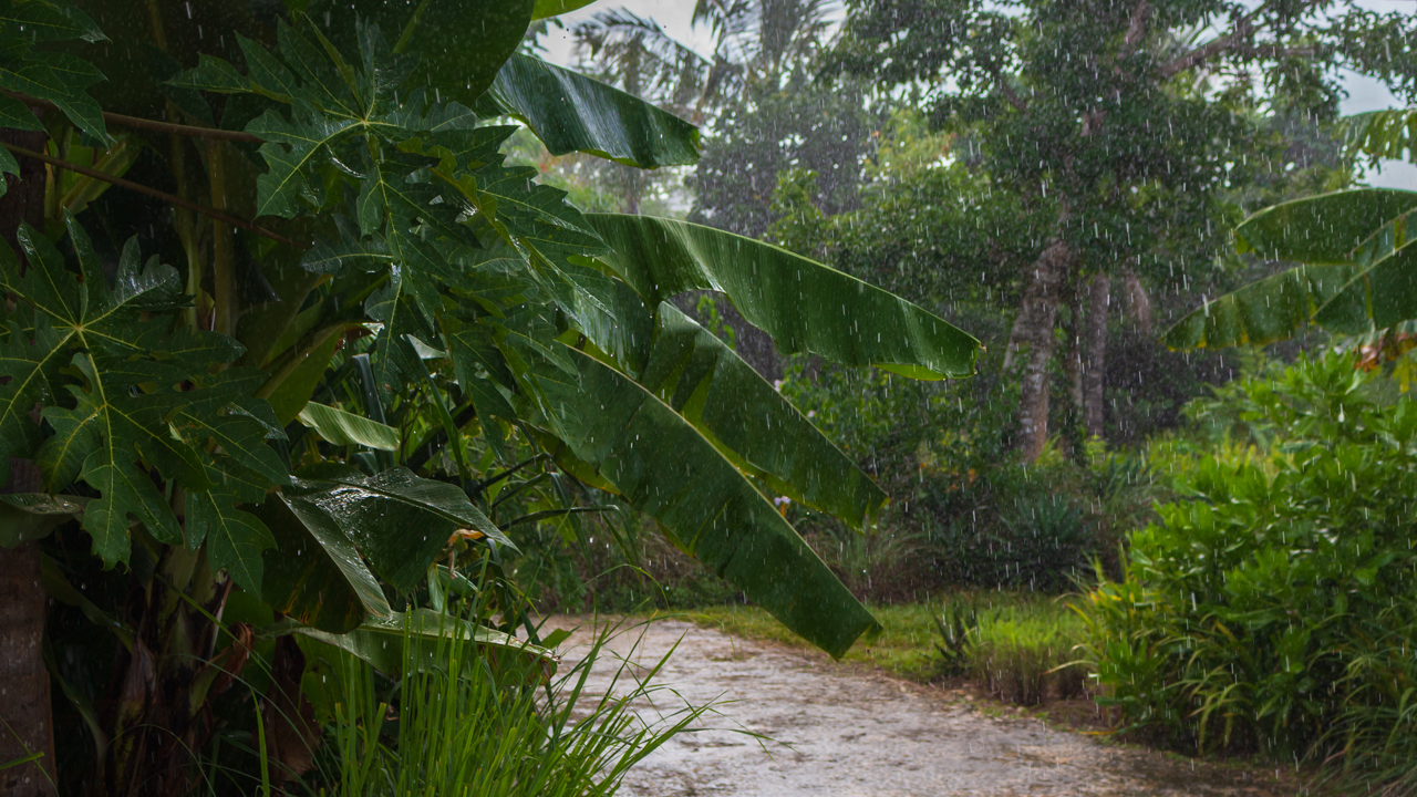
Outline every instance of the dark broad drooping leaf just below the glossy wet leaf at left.
{"type": "Polygon", "coordinates": [[[261,557],[259,594],[271,608],[332,634],[353,631],[368,617],[393,617],[354,543],[323,509],[281,496],[262,503],[256,518],[276,540],[261,557]]]}

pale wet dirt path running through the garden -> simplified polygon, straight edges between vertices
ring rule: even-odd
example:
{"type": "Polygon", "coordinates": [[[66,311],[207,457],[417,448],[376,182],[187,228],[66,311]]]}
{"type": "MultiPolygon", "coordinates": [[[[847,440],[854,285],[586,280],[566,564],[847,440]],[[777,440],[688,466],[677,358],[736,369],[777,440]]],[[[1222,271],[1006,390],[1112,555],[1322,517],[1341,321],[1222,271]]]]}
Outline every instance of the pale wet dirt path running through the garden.
{"type": "MultiPolygon", "coordinates": [[[[585,618],[553,618],[574,628],[585,618]]],[[[561,645],[584,655],[582,630],[561,645]]],[[[1272,774],[1260,780],[1153,752],[1054,730],[1032,718],[990,716],[973,702],[893,678],[853,672],[771,642],[731,638],[680,621],[659,621],[611,642],[648,667],[679,650],[659,682],[693,705],[727,701],[714,728],[680,735],[626,777],[628,797],[952,797],[952,796],[1257,796],[1292,794],[1272,774]],[[639,647],[635,648],[635,642],[639,647]],[[771,737],[760,743],[737,730],[771,737]]],[[[597,662],[592,691],[616,662],[597,662]]],[[[662,692],[646,720],[683,706],[662,692]]],[[[995,712],[996,713],[996,712],[995,712]]]]}

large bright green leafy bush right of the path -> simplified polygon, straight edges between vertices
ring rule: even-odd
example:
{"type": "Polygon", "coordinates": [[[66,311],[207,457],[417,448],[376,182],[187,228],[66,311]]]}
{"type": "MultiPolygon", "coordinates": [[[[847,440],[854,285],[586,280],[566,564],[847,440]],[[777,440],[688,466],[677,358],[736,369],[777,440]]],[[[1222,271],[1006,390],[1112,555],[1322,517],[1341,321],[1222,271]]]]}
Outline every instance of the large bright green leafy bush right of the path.
{"type": "Polygon", "coordinates": [[[1380,381],[1331,355],[1221,393],[1212,414],[1260,448],[1193,459],[1087,601],[1128,728],[1352,773],[1417,760],[1417,407],[1380,381]]]}

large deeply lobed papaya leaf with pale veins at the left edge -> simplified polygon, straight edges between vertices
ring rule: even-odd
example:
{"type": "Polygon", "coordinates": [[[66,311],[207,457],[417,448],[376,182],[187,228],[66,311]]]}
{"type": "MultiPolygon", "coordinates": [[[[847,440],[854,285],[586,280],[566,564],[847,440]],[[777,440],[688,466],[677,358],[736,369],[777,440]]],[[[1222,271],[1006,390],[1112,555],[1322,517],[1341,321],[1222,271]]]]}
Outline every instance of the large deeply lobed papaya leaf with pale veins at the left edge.
{"type": "Polygon", "coordinates": [[[160,542],[183,542],[154,469],[188,492],[238,484],[256,495],[286,474],[265,444],[269,408],[251,398],[265,374],[211,373],[241,346],[210,332],[170,332],[184,305],[177,274],[156,258],[140,267],[129,241],[111,284],[82,227],[67,221],[82,281],[28,225],[18,231],[24,277],[9,248],[0,252],[0,282],[17,298],[0,316],[9,329],[0,370],[10,377],[0,387],[0,448],[34,458],[51,492],[75,478],[98,491],[84,529],[112,564],[128,559],[130,519],[160,542]],[[43,441],[28,418],[35,401],[48,404],[43,417],[54,430],[43,441]]]}

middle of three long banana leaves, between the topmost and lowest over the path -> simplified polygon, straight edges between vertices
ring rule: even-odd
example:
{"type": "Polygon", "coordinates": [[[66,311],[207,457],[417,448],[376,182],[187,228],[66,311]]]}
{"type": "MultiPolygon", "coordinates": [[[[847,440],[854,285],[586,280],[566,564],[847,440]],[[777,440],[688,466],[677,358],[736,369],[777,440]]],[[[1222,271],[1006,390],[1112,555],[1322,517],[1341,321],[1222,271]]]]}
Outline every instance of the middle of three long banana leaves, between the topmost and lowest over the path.
{"type": "Polygon", "coordinates": [[[639,383],[728,461],[798,503],[862,528],[887,495],[752,366],[673,305],[659,306],[639,383]]]}

